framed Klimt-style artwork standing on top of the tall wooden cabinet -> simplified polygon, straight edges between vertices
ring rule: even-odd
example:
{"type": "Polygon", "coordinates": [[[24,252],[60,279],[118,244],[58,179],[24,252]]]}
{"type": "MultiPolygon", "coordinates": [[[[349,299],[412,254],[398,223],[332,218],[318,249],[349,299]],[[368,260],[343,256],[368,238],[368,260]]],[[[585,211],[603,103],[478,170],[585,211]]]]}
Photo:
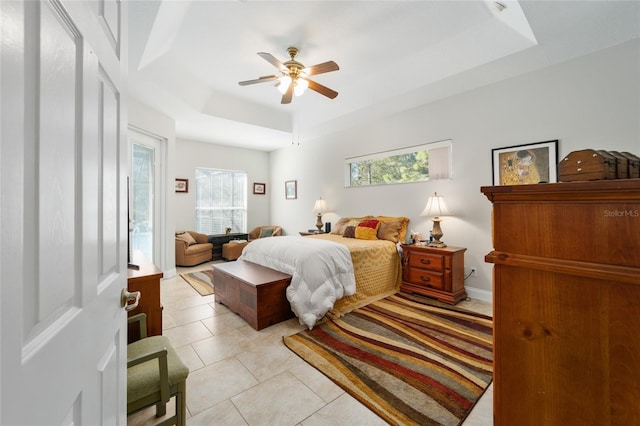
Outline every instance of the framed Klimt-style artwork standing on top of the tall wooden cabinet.
{"type": "Polygon", "coordinates": [[[529,185],[558,181],[558,141],[491,150],[494,185],[529,185]]]}

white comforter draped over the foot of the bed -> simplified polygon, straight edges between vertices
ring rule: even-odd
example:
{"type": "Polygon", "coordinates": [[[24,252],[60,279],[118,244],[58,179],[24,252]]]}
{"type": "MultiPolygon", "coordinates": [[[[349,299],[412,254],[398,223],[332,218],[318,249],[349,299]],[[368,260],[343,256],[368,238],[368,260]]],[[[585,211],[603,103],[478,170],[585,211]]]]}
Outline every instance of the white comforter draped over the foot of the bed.
{"type": "Polygon", "coordinates": [[[356,291],[347,247],[332,241],[297,236],[260,238],[239,259],[291,275],[287,299],[300,324],[310,330],[336,300],[356,291]]]}

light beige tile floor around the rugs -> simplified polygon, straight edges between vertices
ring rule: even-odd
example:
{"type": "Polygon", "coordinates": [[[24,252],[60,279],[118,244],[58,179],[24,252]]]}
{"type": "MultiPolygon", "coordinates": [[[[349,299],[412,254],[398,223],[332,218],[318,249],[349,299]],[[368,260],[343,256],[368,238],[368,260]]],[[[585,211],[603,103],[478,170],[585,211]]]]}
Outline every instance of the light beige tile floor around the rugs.
{"type": "MultiPolygon", "coordinates": [[[[255,331],[214,296],[200,296],[180,273],[211,268],[213,262],[178,268],[161,282],[163,334],[190,369],[188,425],[385,425],[386,422],[302,361],[282,337],[304,327],[296,318],[255,331]]],[[[491,315],[477,300],[459,306],[491,315]]],[[[464,426],[493,424],[490,386],[464,426]]],[[[167,415],[174,412],[173,400],[167,415]]],[[[154,407],[129,416],[128,424],[152,425],[154,407]]]]}

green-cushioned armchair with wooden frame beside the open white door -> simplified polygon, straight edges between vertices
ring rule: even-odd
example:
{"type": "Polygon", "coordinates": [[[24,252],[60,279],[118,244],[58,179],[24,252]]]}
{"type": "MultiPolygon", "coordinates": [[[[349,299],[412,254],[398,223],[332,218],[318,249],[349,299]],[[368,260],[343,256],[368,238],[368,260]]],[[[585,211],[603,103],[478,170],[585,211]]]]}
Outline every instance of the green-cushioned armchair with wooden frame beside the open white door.
{"type": "Polygon", "coordinates": [[[147,337],[146,314],[129,317],[140,325],[140,340],[127,345],[127,414],[156,406],[156,417],[167,414],[175,397],[175,415],[162,425],[186,425],[186,389],[189,368],[165,336],[147,337]]]}

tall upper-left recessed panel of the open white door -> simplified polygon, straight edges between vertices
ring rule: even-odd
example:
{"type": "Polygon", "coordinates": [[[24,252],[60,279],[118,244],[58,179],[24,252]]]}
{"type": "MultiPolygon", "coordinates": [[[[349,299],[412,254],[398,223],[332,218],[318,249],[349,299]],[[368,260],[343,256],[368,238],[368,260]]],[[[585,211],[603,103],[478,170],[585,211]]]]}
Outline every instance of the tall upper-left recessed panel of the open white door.
{"type": "MultiPolygon", "coordinates": [[[[34,14],[32,18],[38,18],[34,14]]],[[[75,28],[60,22],[59,14],[43,5],[40,8],[40,37],[27,33],[38,46],[40,54],[32,56],[34,68],[39,73],[31,76],[39,86],[39,92],[32,92],[30,103],[32,115],[28,123],[38,129],[33,139],[25,141],[33,152],[33,162],[28,165],[33,179],[26,182],[26,189],[32,191],[36,200],[33,209],[34,227],[32,241],[34,263],[38,264],[34,280],[25,282],[27,291],[34,297],[24,299],[27,342],[46,338],[50,326],[75,306],[76,277],[70,276],[74,270],[75,237],[80,231],[75,226],[75,134],[82,129],[76,119],[77,100],[75,98],[76,75],[81,74],[82,64],[78,50],[82,52],[82,41],[75,28]],[[51,43],[54,49],[48,48],[51,43]],[[51,254],[55,253],[55,256],[51,254]],[[46,273],[44,273],[46,271],[46,273]],[[60,285],[48,285],[50,281],[60,285]],[[30,324],[29,320],[35,320],[30,324]]],[[[28,40],[30,42],[31,40],[28,40]]]]}

